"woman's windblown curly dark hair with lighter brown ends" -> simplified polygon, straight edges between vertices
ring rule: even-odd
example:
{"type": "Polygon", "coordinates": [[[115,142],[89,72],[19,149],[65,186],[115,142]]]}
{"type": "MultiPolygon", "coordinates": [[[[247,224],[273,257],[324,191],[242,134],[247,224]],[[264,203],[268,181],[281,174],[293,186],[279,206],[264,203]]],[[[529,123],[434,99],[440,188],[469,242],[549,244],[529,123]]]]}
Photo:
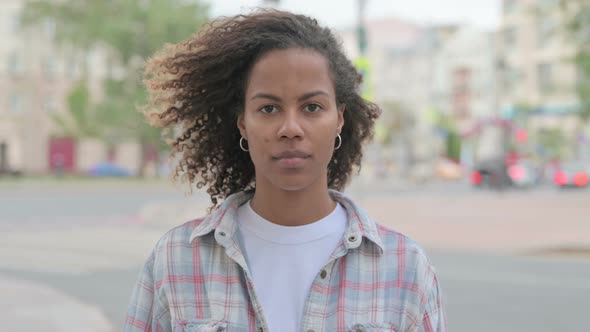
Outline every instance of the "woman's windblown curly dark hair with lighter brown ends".
{"type": "Polygon", "coordinates": [[[328,186],[342,190],[353,167],[360,169],[362,145],[372,137],[380,108],[359,95],[361,75],[330,29],[315,19],[278,10],[221,18],[195,35],[166,45],[146,66],[150,99],[143,109],[150,124],[164,128],[174,180],[207,187],[218,199],[254,189],[254,164],[239,147],[237,117],[244,111],[249,72],[274,49],[304,48],[324,55],[338,104],[345,104],[342,145],[328,165],[328,186]]]}

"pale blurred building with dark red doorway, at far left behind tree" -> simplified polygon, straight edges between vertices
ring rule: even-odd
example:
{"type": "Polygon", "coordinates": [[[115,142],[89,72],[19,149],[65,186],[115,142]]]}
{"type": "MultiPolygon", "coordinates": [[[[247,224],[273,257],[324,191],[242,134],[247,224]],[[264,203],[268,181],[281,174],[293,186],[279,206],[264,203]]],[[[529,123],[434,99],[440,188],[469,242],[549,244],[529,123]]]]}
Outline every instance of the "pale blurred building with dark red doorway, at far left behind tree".
{"type": "Polygon", "coordinates": [[[25,2],[0,1],[0,173],[82,172],[110,157],[134,171],[137,144],[122,144],[122,153],[109,156],[100,140],[65,136],[52,119],[67,114],[67,95],[83,78],[93,99],[100,98],[106,57],[98,50],[58,47],[51,20],[24,27],[25,2]]]}

